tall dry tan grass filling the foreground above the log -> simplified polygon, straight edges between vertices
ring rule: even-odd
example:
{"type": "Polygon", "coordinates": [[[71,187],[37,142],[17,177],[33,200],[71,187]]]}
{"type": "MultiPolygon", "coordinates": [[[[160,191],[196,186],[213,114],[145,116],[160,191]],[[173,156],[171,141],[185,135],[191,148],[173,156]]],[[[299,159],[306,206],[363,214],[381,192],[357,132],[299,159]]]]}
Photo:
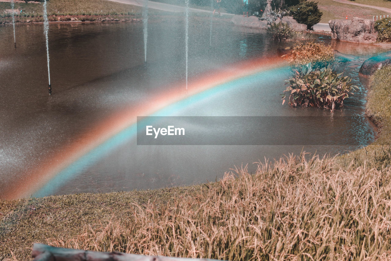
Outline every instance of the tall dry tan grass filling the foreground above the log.
{"type": "Polygon", "coordinates": [[[290,156],[171,204],[129,205],[54,246],[224,260],[373,260],[391,250],[391,169],[290,156]]]}

